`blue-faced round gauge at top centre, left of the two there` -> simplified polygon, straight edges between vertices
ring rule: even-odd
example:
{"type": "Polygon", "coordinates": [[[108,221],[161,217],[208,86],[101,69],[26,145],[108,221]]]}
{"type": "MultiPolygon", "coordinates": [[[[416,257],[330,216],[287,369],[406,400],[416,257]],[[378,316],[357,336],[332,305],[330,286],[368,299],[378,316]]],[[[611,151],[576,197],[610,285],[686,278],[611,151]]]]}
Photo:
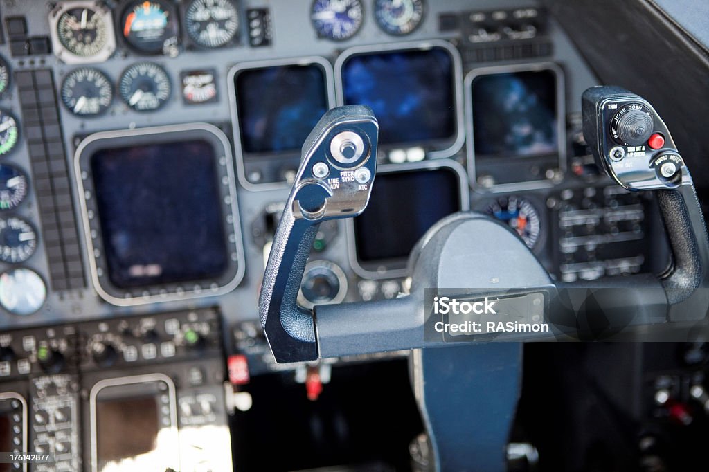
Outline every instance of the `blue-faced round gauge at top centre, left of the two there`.
{"type": "Polygon", "coordinates": [[[321,38],[342,41],[352,38],[362,26],[364,13],[360,0],[315,0],[311,21],[321,38]]]}

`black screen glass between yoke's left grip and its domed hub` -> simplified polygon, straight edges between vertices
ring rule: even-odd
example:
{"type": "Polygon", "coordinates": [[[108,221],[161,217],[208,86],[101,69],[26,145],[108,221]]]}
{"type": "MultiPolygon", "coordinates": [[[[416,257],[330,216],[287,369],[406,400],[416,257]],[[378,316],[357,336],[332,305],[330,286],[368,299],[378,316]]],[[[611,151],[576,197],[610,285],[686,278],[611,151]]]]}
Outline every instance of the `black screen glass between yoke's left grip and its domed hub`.
{"type": "Polygon", "coordinates": [[[459,177],[446,168],[380,174],[370,202],[354,218],[357,259],[403,259],[428,228],[461,209],[459,177]]]}

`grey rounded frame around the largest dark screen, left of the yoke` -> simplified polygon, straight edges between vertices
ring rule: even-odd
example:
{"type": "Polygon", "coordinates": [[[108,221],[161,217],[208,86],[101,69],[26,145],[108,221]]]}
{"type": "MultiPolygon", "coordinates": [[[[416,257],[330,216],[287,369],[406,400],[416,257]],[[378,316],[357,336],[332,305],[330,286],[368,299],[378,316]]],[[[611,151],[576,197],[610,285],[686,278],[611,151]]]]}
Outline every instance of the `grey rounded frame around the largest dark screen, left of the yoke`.
{"type": "Polygon", "coordinates": [[[228,137],[219,128],[208,123],[186,123],[94,133],[79,144],[74,152],[77,199],[82,213],[91,281],[101,298],[113,305],[133,306],[219,296],[233,291],[239,285],[245,273],[245,256],[232,159],[228,137]],[[217,184],[222,202],[221,213],[224,215],[225,241],[227,252],[230,254],[228,268],[216,279],[167,283],[133,289],[113,286],[108,277],[108,265],[106,257],[104,257],[104,243],[101,238],[99,210],[96,198],[94,198],[91,156],[102,149],[125,147],[126,142],[129,142],[130,145],[142,145],[194,139],[206,140],[213,145],[215,150],[217,184]]]}

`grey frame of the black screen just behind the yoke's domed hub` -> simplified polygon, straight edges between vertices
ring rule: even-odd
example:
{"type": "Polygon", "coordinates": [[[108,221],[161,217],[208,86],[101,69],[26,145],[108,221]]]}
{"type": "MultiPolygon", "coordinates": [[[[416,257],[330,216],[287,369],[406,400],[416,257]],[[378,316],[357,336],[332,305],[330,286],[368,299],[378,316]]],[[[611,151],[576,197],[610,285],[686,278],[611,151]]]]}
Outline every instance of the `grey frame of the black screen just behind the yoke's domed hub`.
{"type": "MultiPolygon", "coordinates": [[[[470,210],[470,190],[465,168],[453,159],[407,162],[405,164],[384,164],[377,167],[376,174],[382,175],[415,171],[435,171],[444,168],[451,170],[458,177],[460,189],[460,211],[470,210]]],[[[374,185],[376,185],[376,183],[374,185]]],[[[408,273],[406,267],[407,258],[377,261],[371,266],[369,264],[363,265],[362,262],[359,261],[359,257],[357,257],[357,244],[354,240],[354,218],[348,218],[345,222],[345,235],[347,237],[347,258],[350,259],[350,266],[352,266],[352,271],[362,277],[362,279],[396,279],[398,277],[406,277],[411,275],[408,273]],[[373,266],[376,266],[376,268],[373,266]]]]}

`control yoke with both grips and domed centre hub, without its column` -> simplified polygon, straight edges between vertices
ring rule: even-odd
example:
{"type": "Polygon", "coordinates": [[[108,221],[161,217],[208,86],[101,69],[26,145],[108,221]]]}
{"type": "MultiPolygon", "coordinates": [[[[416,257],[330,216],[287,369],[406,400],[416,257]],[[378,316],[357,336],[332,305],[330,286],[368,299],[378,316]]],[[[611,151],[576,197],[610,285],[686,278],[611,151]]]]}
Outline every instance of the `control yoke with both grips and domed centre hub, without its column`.
{"type": "MultiPolygon", "coordinates": [[[[598,165],[625,189],[657,196],[672,253],[664,274],[553,282],[508,227],[486,215],[459,213],[434,225],[413,250],[409,293],[393,300],[298,306],[318,224],[362,213],[374,184],[376,118],[366,106],[342,106],[328,111],[303,145],[266,266],[259,315],[275,359],[311,361],[445,345],[450,339],[425,340],[424,326],[432,318],[427,288],[469,287],[464,296],[475,298],[503,286],[515,288],[521,300],[525,293],[553,298],[593,286],[626,294],[606,301],[613,305],[608,313],[622,308],[630,324],[705,318],[709,300],[698,288],[709,286],[709,242],[691,175],[669,130],[647,101],[618,87],[592,87],[582,103],[584,135],[598,165]]],[[[594,302],[605,308],[602,297],[594,302]]],[[[549,305],[545,321],[568,320],[568,310],[554,313],[563,311],[560,306],[549,305]]]]}

